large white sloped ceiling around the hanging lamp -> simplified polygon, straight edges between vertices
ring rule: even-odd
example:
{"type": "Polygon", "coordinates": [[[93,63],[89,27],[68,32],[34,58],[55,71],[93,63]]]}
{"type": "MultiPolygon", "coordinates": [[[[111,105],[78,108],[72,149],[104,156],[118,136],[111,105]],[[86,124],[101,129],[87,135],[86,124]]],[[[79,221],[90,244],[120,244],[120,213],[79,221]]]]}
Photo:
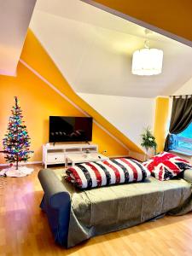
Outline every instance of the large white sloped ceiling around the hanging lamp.
{"type": "Polygon", "coordinates": [[[192,49],[153,32],[164,51],[163,72],[131,74],[131,56],[143,48],[144,28],[79,0],[38,0],[30,27],[77,92],[113,96],[170,95],[192,75],[192,49]]]}

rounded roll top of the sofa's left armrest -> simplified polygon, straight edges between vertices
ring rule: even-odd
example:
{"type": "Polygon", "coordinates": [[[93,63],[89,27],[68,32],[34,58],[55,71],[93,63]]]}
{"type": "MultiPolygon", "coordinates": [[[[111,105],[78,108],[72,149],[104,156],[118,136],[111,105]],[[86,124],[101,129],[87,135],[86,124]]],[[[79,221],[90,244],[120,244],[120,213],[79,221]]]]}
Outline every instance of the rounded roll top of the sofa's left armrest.
{"type": "Polygon", "coordinates": [[[61,208],[66,205],[66,202],[70,201],[70,195],[67,189],[52,170],[41,170],[38,172],[38,179],[51,207],[61,208]]]}

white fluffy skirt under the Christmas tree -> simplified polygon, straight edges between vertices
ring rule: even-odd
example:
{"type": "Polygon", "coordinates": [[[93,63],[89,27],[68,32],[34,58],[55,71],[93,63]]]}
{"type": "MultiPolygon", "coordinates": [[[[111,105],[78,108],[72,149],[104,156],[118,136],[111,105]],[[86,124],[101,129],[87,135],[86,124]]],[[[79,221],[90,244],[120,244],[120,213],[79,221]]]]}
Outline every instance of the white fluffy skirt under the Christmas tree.
{"type": "Polygon", "coordinates": [[[3,169],[0,172],[0,175],[6,175],[7,177],[25,177],[33,172],[32,168],[28,168],[26,166],[20,166],[18,170],[16,170],[15,166],[12,166],[7,169],[3,169]]]}

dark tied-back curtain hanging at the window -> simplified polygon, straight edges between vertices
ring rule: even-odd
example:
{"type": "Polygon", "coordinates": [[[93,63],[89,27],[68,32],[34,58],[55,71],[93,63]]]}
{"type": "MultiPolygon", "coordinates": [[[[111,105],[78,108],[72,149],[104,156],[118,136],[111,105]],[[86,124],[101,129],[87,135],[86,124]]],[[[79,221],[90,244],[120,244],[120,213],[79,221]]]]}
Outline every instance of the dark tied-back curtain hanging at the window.
{"type": "Polygon", "coordinates": [[[172,117],[169,134],[166,137],[165,151],[172,149],[174,135],[184,131],[192,121],[192,96],[173,96],[172,117]],[[173,136],[172,136],[173,135],[173,136]]]}

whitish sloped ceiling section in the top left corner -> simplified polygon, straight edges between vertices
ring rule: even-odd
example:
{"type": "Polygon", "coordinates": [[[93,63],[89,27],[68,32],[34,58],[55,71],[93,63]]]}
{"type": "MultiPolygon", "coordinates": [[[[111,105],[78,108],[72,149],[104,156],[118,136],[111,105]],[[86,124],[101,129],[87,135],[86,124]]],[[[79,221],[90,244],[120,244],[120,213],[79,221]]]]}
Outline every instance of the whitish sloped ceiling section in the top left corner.
{"type": "Polygon", "coordinates": [[[36,0],[0,0],[0,74],[16,75],[36,0]]]}

